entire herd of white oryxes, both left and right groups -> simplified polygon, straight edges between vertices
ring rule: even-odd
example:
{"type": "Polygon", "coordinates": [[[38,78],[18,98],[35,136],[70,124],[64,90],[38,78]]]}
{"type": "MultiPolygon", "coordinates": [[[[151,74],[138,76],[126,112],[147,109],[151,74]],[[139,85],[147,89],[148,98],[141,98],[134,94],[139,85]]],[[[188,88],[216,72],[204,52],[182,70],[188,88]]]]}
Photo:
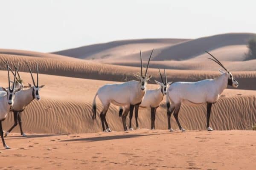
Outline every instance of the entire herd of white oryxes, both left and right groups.
{"type": "MultiPolygon", "coordinates": [[[[206,51],[207,52],[207,51],[206,51]]],[[[102,111],[100,113],[100,119],[102,122],[102,130],[104,132],[111,132],[108,122],[106,120],[106,113],[110,104],[119,106],[119,116],[122,116],[122,124],[124,130],[128,130],[126,126],[126,116],[129,113],[129,130],[133,130],[131,126],[131,120],[133,117],[133,111],[135,109],[135,119],[136,127],[139,128],[138,124],[138,112],[140,108],[150,108],[151,109],[151,129],[155,129],[155,116],[156,110],[160,106],[164,96],[166,96],[167,105],[167,122],[168,129],[172,130],[170,118],[172,112],[174,112],[174,117],[179,126],[179,129],[185,131],[180,125],[178,114],[180,111],[181,103],[187,103],[192,105],[199,105],[207,103],[207,130],[212,131],[209,126],[209,119],[211,114],[212,104],[217,102],[219,96],[227,88],[227,85],[231,85],[235,88],[238,87],[238,82],[233,78],[233,75],[221,62],[216,59],[212,54],[207,52],[212,58],[212,61],[218,63],[225,71],[221,71],[221,75],[215,79],[204,79],[198,82],[167,82],[166,70],[164,69],[164,78],[161,74],[160,69],[159,74],[161,77],[161,82],[155,80],[157,85],[156,89],[147,90],[148,80],[151,79],[152,75],[148,76],[148,67],[150,63],[153,50],[151,51],[150,57],[148,59],[147,67],[145,73],[143,74],[143,59],[142,53],[140,51],[140,75],[135,74],[139,81],[128,81],[120,84],[106,84],[99,88],[94,99],[93,99],[93,116],[92,119],[96,119],[96,96],[102,102],[102,111]]],[[[9,63],[6,61],[7,72],[8,72],[8,88],[3,88],[0,90],[0,135],[3,142],[3,146],[6,149],[9,147],[6,145],[3,136],[2,121],[6,119],[7,114],[12,111],[14,114],[14,125],[6,131],[5,137],[12,131],[12,129],[19,124],[20,134],[26,136],[22,130],[22,122],[20,113],[24,111],[27,105],[29,105],[32,100],[40,100],[39,91],[44,85],[39,86],[38,83],[38,65],[36,65],[37,70],[37,82],[32,75],[31,68],[26,63],[29,69],[33,86],[23,85],[23,79],[21,79],[18,72],[19,63],[15,67],[15,72],[9,67],[9,63]],[[9,72],[12,72],[14,79],[11,82],[9,72]],[[12,83],[12,85],[11,85],[12,83]]]]}

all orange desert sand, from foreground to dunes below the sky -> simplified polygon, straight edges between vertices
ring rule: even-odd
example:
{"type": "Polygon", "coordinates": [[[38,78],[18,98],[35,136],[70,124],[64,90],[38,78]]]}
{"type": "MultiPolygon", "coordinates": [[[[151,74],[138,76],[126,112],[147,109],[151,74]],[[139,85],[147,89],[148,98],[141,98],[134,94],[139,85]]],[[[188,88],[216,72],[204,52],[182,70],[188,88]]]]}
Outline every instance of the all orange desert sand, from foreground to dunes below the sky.
{"type": "MultiPolygon", "coordinates": [[[[39,64],[41,101],[32,101],[21,117],[20,137],[15,127],[6,143],[11,150],[0,150],[0,169],[253,169],[255,164],[256,60],[244,61],[247,40],[255,34],[222,34],[196,40],[145,39],[89,45],[54,53],[0,49],[0,59],[20,62],[24,83],[32,83],[25,61],[35,73],[39,64]],[[111,105],[106,119],[113,133],[102,133],[97,103],[97,119],[92,120],[92,102],[99,87],[122,83],[140,73],[140,54],[154,57],[148,74],[148,89],[160,81],[157,68],[166,68],[169,82],[215,78],[219,66],[204,53],[208,50],[232,71],[239,88],[228,88],[212,107],[207,132],[206,105],[182,105],[181,133],[172,116],[167,130],[165,97],[156,114],[157,130],[150,128],[150,110],[140,109],[140,130],[123,132],[119,108],[111,105]],[[189,51],[189,52],[187,52],[189,51]],[[175,54],[175,55],[174,55],[175,54]],[[65,55],[65,56],[64,56],[65,55]]],[[[144,63],[146,65],[146,62],[144,63]]],[[[7,71],[0,62],[0,85],[6,87],[7,71]]],[[[35,74],[34,74],[35,75],[35,74]]],[[[128,123],[129,118],[127,118],[128,123]]],[[[3,129],[13,125],[9,113],[3,129]]],[[[133,127],[135,120],[133,119],[133,127]]],[[[1,147],[0,147],[1,149],[1,147]]]]}

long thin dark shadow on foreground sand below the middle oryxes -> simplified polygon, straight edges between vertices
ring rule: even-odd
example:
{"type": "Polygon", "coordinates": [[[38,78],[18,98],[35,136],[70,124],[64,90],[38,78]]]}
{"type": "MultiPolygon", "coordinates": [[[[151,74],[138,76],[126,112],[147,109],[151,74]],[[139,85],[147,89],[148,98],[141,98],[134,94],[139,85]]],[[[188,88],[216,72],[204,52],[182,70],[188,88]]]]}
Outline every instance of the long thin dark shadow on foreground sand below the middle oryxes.
{"type": "Polygon", "coordinates": [[[72,142],[72,141],[88,141],[88,142],[96,142],[96,141],[107,141],[114,139],[128,139],[128,138],[136,138],[141,136],[152,136],[152,135],[160,135],[160,133],[156,134],[130,134],[130,135],[115,135],[115,136],[98,136],[91,138],[81,138],[81,139],[68,139],[62,140],[61,142],[72,142]]]}

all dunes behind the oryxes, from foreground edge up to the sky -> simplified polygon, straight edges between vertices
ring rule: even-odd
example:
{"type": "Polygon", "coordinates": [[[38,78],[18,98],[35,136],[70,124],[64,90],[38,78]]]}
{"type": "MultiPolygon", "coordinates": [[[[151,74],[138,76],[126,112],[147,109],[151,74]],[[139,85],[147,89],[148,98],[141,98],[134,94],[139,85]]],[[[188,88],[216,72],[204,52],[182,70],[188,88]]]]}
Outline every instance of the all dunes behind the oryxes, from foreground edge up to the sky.
{"type": "MultiPolygon", "coordinates": [[[[89,133],[102,131],[99,113],[102,105],[97,99],[97,119],[91,119],[93,96],[107,83],[125,82],[140,73],[140,49],[147,60],[154,48],[148,74],[153,78],[148,88],[157,88],[160,81],[157,68],[166,68],[168,81],[191,81],[215,78],[219,66],[209,59],[208,50],[232,71],[239,82],[238,89],[227,89],[213,105],[211,127],[215,130],[251,129],[256,122],[256,60],[243,61],[247,40],[255,34],[221,34],[196,40],[145,39],[123,40],[88,45],[53,54],[34,51],[0,49],[0,59],[10,63],[20,62],[20,74],[25,83],[32,82],[25,61],[35,72],[39,64],[39,82],[46,85],[41,91],[41,101],[33,101],[22,113],[23,130],[29,133],[89,133]],[[131,67],[134,66],[134,67],[131,67]],[[116,81],[116,82],[113,82],[116,81]]],[[[6,65],[0,62],[0,83],[7,85],[6,65]]],[[[206,107],[182,105],[180,122],[187,130],[206,129],[206,107]]],[[[122,131],[118,107],[111,105],[107,119],[112,130],[122,131]]],[[[157,109],[156,128],[167,129],[165,97],[157,109]]],[[[128,121],[128,119],[127,119],[128,121]]],[[[133,122],[134,123],[134,122],[133,122]]],[[[150,128],[148,109],[139,111],[142,128],[150,128]]],[[[172,117],[172,127],[177,124],[172,117]]],[[[5,130],[13,124],[9,114],[3,122],[5,130]]],[[[135,124],[133,124],[135,127],[135,124]]],[[[14,132],[19,128],[15,127],[14,132]]]]}

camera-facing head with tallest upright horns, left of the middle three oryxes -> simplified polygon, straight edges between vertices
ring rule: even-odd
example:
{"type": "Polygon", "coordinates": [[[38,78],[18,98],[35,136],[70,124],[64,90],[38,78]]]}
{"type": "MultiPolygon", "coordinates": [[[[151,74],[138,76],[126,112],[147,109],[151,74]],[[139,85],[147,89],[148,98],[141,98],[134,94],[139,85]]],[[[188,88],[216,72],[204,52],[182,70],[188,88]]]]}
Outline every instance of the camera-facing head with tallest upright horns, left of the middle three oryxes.
{"type": "Polygon", "coordinates": [[[154,49],[151,51],[150,57],[148,59],[148,65],[147,65],[147,68],[145,71],[145,75],[143,75],[143,63],[142,63],[143,61],[142,61],[142,54],[140,51],[140,76],[139,75],[135,75],[135,76],[140,79],[140,89],[142,91],[144,91],[146,89],[147,82],[152,77],[152,75],[147,76],[147,73],[148,73],[148,66],[149,66],[149,62],[150,62],[153,51],[154,51],[154,49]]]}

